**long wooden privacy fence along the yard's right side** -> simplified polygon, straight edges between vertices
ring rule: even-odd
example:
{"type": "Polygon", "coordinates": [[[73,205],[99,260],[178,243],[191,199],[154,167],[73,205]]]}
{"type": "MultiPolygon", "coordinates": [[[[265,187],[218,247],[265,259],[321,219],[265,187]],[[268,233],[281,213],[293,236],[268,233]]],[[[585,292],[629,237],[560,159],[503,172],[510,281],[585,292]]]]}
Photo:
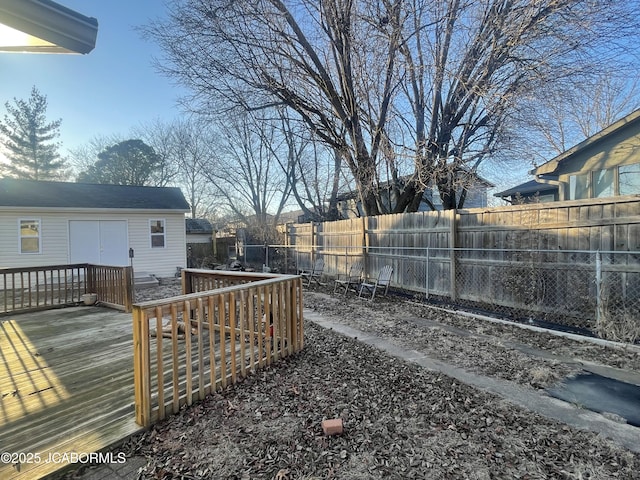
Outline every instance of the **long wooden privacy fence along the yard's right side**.
{"type": "Polygon", "coordinates": [[[640,312],[638,195],[290,224],[279,248],[287,268],[322,255],[328,276],[361,261],[374,278],[390,264],[395,287],[581,326],[605,304],[640,312]]]}

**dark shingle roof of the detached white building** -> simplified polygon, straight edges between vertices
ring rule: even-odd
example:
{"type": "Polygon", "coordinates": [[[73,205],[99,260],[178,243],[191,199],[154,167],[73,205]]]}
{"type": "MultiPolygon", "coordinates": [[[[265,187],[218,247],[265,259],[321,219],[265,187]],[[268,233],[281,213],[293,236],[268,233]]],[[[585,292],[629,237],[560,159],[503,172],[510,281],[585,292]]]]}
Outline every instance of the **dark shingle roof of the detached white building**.
{"type": "Polygon", "coordinates": [[[179,188],[0,179],[0,206],[189,210],[179,188]]]}

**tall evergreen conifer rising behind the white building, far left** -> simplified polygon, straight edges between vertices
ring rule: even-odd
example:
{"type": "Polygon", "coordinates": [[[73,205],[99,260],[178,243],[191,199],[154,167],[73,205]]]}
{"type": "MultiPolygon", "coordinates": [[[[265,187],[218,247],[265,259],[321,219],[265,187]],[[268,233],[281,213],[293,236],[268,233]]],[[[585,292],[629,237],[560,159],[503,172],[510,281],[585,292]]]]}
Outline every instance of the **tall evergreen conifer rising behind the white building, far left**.
{"type": "Polygon", "coordinates": [[[62,120],[47,122],[47,97],[36,87],[29,100],[14,98],[5,103],[7,113],[0,121],[0,144],[9,164],[0,165],[8,177],[28,180],[54,180],[63,175],[64,160],[54,140],[60,135],[62,120]]]}

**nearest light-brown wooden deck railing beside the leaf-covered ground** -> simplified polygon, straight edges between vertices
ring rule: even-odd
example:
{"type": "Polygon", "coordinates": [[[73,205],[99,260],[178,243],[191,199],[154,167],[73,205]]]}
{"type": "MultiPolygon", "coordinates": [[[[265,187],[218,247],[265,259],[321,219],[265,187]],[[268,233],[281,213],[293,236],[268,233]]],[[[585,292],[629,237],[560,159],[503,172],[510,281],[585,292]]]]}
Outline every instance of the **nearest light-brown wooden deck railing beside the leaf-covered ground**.
{"type": "Polygon", "coordinates": [[[133,306],[145,427],[303,348],[300,277],[187,269],[182,280],[184,295],[133,306]]]}

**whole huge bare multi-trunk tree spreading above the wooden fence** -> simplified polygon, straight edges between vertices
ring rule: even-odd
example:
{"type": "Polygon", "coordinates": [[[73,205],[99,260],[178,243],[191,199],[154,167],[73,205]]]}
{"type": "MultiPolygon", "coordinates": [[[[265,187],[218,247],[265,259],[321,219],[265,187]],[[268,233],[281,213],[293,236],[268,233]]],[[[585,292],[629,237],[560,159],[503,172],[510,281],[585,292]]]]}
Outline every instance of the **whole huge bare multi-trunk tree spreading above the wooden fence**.
{"type": "Polygon", "coordinates": [[[338,152],[366,214],[415,210],[508,139],[523,98],[611,64],[623,0],[183,0],[147,33],[202,110],[291,109],[338,152]],[[597,52],[597,55],[594,54],[597,52]],[[383,188],[383,185],[387,187],[383,188]],[[395,202],[383,198],[391,189],[395,202]]]}

